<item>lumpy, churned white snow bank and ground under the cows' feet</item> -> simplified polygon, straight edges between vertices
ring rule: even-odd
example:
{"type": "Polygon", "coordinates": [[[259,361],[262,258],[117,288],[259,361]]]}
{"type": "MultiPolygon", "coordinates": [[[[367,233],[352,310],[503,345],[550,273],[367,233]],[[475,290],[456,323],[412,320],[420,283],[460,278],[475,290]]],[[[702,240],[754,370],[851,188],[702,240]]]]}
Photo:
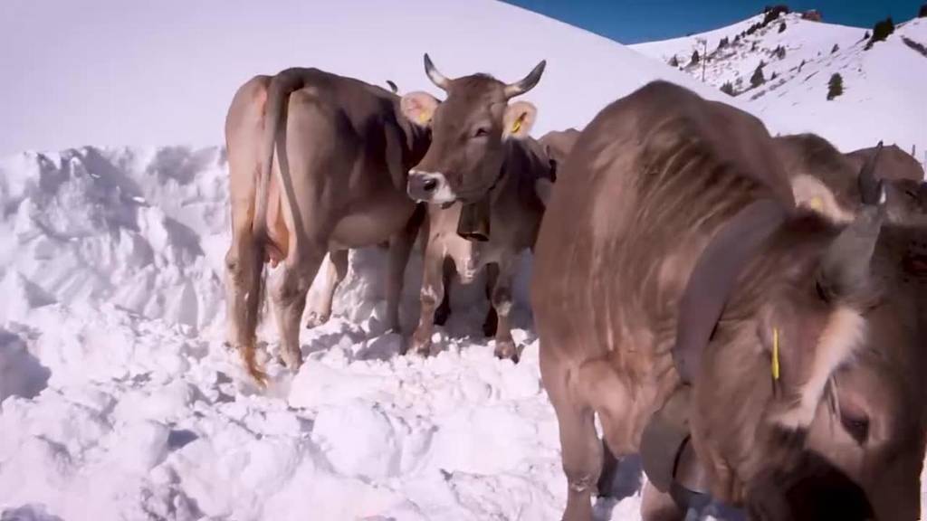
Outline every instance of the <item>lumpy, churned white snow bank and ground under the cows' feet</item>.
{"type": "Polygon", "coordinates": [[[0,162],[5,521],[555,517],[565,483],[527,311],[523,361],[498,361],[471,337],[478,288],[438,328],[445,352],[400,357],[377,320],[384,253],[357,252],[347,316],[303,334],[294,379],[269,361],[255,393],[222,347],[224,170],[215,148],[0,162]]]}

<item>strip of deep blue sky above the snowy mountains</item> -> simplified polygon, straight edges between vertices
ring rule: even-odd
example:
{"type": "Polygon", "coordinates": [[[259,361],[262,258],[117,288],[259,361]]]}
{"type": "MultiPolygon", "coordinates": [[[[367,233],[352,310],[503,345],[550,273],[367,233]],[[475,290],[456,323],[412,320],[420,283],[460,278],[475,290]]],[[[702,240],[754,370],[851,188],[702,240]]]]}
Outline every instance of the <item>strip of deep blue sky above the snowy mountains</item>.
{"type": "Polygon", "coordinates": [[[729,25],[785,3],[794,10],[818,9],[824,21],[870,28],[891,16],[914,18],[924,0],[506,0],[515,6],[597,32],[623,44],[664,40],[729,25]]]}

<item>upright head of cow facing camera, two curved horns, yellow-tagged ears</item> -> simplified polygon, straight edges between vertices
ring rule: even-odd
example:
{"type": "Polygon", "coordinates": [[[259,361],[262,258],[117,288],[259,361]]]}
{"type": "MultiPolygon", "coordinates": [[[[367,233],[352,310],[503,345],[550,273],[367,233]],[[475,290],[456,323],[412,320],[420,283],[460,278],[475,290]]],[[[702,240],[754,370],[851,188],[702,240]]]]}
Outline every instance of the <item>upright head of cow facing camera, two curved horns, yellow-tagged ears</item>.
{"type": "Polygon", "coordinates": [[[510,104],[540,80],[541,61],[521,81],[502,83],[486,74],[445,78],[425,55],[425,72],[447,93],[439,102],[414,92],[402,96],[402,112],[431,128],[431,146],[409,174],[409,196],[429,203],[474,202],[499,180],[505,140],[528,135],[537,109],[525,101],[510,104]]]}

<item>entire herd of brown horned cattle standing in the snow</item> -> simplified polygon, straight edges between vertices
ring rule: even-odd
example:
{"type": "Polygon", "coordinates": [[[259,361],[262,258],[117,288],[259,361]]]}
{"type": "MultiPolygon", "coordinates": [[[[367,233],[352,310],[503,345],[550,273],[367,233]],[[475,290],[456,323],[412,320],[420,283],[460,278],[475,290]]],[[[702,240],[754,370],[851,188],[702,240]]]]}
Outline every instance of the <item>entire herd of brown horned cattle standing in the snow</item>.
{"type": "MultiPolygon", "coordinates": [[[[927,184],[896,146],[842,154],[772,137],[751,115],[672,83],[618,99],[581,132],[529,134],[539,83],[449,79],[398,95],[316,69],[242,85],[225,133],[233,240],[229,343],[259,383],[264,265],[287,367],[307,292],[321,311],[348,249],[388,243],[387,321],[421,240],[427,354],[447,285],[487,272],[484,324],[517,362],[515,262],[531,307],[568,483],[589,521],[616,460],[641,453],[642,515],[709,500],[751,519],[915,520],[927,443],[927,184]],[[596,435],[594,417],[603,427],[596,435]]],[[[406,349],[403,349],[405,351],[406,349]]]]}

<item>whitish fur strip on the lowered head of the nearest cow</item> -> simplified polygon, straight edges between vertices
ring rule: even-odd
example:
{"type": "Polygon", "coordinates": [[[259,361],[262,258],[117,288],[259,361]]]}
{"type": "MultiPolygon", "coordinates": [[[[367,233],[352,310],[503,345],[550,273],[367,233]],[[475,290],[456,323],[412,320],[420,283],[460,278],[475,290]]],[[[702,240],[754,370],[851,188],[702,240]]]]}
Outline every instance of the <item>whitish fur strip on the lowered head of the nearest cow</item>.
{"type": "Polygon", "coordinates": [[[858,311],[845,307],[833,311],[815,347],[811,374],[799,391],[800,400],[773,421],[791,430],[811,425],[831,375],[853,357],[865,337],[866,321],[858,311]]]}

